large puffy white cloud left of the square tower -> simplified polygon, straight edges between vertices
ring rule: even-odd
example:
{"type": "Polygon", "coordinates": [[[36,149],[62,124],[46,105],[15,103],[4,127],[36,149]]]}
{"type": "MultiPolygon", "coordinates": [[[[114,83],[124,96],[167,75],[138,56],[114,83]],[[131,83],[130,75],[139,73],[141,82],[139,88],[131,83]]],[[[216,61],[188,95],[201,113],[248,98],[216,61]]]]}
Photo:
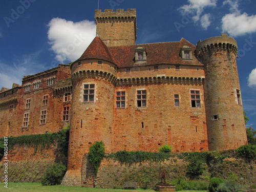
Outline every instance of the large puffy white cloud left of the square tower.
{"type": "Polygon", "coordinates": [[[48,27],[49,44],[60,62],[78,59],[96,35],[96,24],[89,20],[74,23],[53,18],[48,27]]]}

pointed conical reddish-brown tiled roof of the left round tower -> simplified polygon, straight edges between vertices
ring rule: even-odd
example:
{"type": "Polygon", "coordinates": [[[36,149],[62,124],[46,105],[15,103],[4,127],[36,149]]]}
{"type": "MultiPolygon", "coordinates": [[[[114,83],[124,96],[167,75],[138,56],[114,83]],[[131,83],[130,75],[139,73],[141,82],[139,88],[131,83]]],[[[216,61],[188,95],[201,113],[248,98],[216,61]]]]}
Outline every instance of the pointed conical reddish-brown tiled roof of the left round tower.
{"type": "Polygon", "coordinates": [[[98,36],[93,39],[91,44],[78,60],[83,59],[101,59],[114,63],[108,47],[106,47],[104,42],[98,36]]]}

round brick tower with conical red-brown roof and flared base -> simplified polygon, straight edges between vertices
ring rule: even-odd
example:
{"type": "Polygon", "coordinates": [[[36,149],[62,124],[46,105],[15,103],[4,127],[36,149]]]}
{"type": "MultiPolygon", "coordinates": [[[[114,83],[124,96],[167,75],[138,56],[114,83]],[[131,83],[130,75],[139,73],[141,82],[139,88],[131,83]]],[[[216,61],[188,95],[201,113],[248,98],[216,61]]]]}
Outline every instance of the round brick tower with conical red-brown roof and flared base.
{"type": "Polygon", "coordinates": [[[111,152],[116,66],[108,48],[97,36],[71,64],[72,109],[68,170],[62,185],[81,186],[84,154],[96,141],[111,152]]]}

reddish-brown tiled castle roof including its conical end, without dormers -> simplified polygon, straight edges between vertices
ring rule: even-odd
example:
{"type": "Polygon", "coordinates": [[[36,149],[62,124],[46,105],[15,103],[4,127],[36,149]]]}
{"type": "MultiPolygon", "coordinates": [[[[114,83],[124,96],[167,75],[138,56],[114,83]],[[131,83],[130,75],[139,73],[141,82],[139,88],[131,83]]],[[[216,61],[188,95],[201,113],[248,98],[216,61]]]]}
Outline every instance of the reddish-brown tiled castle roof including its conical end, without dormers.
{"type": "Polygon", "coordinates": [[[102,59],[115,63],[119,68],[138,66],[135,62],[135,49],[144,47],[146,50],[146,61],[139,65],[202,65],[195,57],[196,47],[184,38],[173,42],[156,42],[152,44],[138,44],[132,46],[106,47],[100,37],[95,37],[86,51],[78,60],[82,59],[102,59]],[[182,59],[180,56],[181,48],[189,46],[192,49],[192,60],[182,59]]]}

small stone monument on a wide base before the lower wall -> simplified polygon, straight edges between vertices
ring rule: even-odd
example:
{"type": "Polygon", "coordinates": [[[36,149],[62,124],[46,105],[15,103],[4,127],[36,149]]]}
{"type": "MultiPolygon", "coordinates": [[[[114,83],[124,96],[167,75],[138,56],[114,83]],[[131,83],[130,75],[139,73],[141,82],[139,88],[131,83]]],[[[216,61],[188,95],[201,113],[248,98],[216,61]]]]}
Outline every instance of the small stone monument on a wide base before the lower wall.
{"type": "Polygon", "coordinates": [[[168,173],[164,168],[161,168],[159,172],[159,180],[161,180],[161,182],[155,186],[155,191],[175,191],[174,185],[166,183],[167,177],[168,173]]]}

